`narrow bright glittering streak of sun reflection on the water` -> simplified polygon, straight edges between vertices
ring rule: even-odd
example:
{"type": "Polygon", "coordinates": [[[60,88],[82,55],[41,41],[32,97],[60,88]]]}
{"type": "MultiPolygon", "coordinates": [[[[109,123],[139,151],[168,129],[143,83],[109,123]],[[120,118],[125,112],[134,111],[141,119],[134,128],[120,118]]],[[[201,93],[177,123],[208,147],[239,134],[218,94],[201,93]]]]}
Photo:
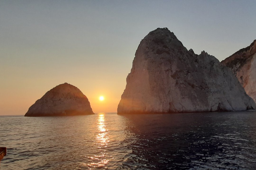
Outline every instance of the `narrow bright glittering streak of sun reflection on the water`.
{"type": "Polygon", "coordinates": [[[90,167],[104,167],[108,163],[106,147],[109,142],[108,129],[106,129],[105,114],[100,113],[98,115],[97,128],[98,133],[96,134],[95,145],[98,148],[99,155],[90,157],[93,162],[88,164],[90,167]]]}

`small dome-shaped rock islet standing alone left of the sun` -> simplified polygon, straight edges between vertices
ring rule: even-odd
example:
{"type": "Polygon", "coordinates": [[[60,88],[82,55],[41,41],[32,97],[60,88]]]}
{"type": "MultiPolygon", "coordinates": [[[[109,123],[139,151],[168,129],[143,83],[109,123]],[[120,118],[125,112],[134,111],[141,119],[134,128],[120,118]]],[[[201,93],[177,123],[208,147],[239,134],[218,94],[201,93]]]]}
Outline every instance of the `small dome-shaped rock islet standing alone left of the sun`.
{"type": "Polygon", "coordinates": [[[25,116],[72,116],[94,114],[87,97],[75,86],[64,83],[37,100],[25,116]]]}

